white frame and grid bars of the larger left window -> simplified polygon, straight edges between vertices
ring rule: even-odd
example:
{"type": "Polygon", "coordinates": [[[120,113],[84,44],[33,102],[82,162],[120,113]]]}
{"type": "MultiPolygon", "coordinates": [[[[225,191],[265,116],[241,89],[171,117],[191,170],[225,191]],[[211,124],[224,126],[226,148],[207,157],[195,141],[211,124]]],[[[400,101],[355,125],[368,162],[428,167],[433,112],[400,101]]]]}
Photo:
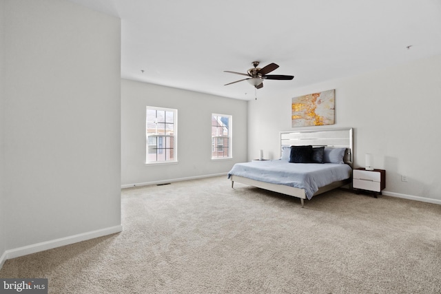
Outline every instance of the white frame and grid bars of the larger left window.
{"type": "MultiPolygon", "coordinates": [[[[158,124],[158,122],[155,122],[156,124],[158,124]]],[[[156,127],[156,131],[158,130],[158,128],[156,127]]],[[[155,107],[155,106],[146,106],[145,107],[145,164],[146,165],[164,165],[164,164],[170,164],[170,163],[176,163],[178,162],[178,109],[174,109],[174,108],[165,108],[165,107],[155,107]],[[148,119],[148,111],[149,110],[154,110],[156,111],[155,114],[155,120],[158,118],[158,111],[161,112],[165,112],[164,114],[164,122],[161,122],[161,124],[164,124],[164,134],[158,134],[158,132],[153,133],[153,132],[148,132],[148,125],[149,125],[149,121],[148,119]],[[172,112],[173,113],[173,122],[172,123],[168,123],[167,122],[167,112],[172,112]],[[165,131],[167,130],[166,127],[167,125],[173,125],[173,134],[165,134],[165,131]],[[156,138],[154,139],[154,143],[156,144],[150,144],[153,143],[152,142],[152,138],[156,138]],[[164,140],[165,138],[165,140],[164,140]],[[172,145],[170,145],[170,147],[167,147],[167,138],[170,138],[170,140],[172,140],[172,145]],[[161,145],[162,147],[159,148],[159,141],[161,141],[161,145]],[[165,145],[165,147],[164,147],[165,145]],[[150,148],[150,146],[156,146],[154,147],[154,149],[156,149],[156,160],[149,160],[149,154],[150,154],[150,150],[152,150],[150,148]],[[166,160],[158,160],[158,156],[159,155],[163,155],[165,156],[165,158],[167,158],[167,149],[172,149],[173,151],[173,159],[166,159],[166,160]]]]}

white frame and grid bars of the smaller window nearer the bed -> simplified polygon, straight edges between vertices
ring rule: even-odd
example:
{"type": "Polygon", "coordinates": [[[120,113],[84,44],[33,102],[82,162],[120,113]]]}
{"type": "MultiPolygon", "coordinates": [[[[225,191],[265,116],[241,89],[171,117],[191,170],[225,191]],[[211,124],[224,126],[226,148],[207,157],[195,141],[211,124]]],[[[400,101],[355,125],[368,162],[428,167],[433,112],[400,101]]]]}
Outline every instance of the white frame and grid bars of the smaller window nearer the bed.
{"type": "MultiPolygon", "coordinates": [[[[232,159],[233,158],[233,116],[230,114],[217,114],[217,113],[212,113],[211,116],[211,125],[212,125],[212,160],[225,160],[225,159],[232,159]],[[216,117],[216,118],[215,118],[216,117]],[[225,128],[223,125],[213,125],[213,120],[216,119],[217,123],[220,123],[218,118],[219,117],[225,117],[228,119],[228,125],[226,126],[228,132],[227,132],[227,136],[222,135],[218,135],[218,134],[214,134],[213,129],[214,127],[218,128],[218,127],[223,127],[225,128]],[[225,139],[227,139],[227,145],[225,145],[225,139]],[[219,144],[219,140],[222,140],[222,144],[219,144]],[[225,148],[228,151],[227,156],[214,156],[214,153],[216,153],[216,146],[222,146],[222,151],[225,150],[225,148]]],[[[217,149],[217,154],[219,154],[219,147],[217,149]]]]}

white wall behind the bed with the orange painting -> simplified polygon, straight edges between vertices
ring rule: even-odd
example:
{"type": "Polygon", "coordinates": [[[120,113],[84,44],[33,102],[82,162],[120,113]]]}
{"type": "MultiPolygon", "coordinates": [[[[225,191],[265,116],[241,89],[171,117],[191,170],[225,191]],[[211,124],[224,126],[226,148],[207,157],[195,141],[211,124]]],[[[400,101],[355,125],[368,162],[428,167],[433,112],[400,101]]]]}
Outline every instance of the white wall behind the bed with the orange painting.
{"type": "Polygon", "coordinates": [[[355,167],[374,154],[375,167],[386,169],[385,194],[441,204],[441,56],[250,101],[248,159],[255,149],[278,158],[278,132],[293,129],[292,97],[331,89],[336,124],[314,128],[353,127],[355,167]]]}

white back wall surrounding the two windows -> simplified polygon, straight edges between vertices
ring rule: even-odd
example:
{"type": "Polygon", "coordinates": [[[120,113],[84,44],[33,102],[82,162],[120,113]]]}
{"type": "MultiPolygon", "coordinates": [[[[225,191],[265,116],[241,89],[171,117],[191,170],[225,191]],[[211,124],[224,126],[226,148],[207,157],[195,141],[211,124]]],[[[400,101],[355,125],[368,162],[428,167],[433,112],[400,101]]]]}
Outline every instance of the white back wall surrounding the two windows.
{"type": "Polygon", "coordinates": [[[226,174],[247,159],[247,101],[121,81],[123,187],[226,174]],[[145,165],[145,107],[178,109],[178,163],[145,165]],[[211,160],[211,116],[233,118],[233,158],[211,160]]]}

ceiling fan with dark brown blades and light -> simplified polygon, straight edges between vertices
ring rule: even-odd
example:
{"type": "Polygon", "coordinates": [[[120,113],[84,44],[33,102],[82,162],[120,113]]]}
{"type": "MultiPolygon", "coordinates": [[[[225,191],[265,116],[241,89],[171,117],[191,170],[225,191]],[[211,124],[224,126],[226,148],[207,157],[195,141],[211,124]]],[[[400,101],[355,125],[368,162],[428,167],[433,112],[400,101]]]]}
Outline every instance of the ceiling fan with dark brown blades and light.
{"type": "Polygon", "coordinates": [[[238,83],[241,81],[248,81],[248,83],[254,85],[256,89],[260,89],[263,87],[263,80],[292,80],[294,76],[285,76],[282,74],[269,74],[269,72],[272,72],[273,70],[276,70],[278,65],[276,63],[269,63],[269,65],[265,67],[257,67],[259,65],[258,61],[253,61],[252,65],[254,68],[250,68],[247,72],[247,74],[243,74],[241,72],[230,72],[229,70],[224,70],[224,72],[229,72],[232,74],[240,74],[242,76],[248,76],[247,78],[243,78],[242,80],[235,81],[232,83],[227,83],[226,85],[231,85],[234,83],[238,83]]]}

